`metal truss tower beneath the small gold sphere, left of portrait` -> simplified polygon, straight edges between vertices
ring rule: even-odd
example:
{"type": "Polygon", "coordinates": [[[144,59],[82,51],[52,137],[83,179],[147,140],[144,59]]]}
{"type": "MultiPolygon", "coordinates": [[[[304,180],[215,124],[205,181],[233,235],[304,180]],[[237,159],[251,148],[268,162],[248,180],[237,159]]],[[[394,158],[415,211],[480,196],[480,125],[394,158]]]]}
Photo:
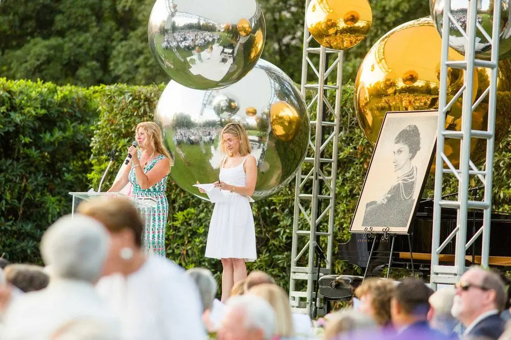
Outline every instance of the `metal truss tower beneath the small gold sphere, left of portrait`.
{"type": "Polygon", "coordinates": [[[319,274],[330,274],[332,268],[342,56],[342,51],[319,46],[305,23],[301,94],[311,116],[311,138],[295,184],[289,283],[295,312],[311,314],[318,308],[314,285],[319,274]],[[312,72],[314,80],[308,82],[312,72]]]}

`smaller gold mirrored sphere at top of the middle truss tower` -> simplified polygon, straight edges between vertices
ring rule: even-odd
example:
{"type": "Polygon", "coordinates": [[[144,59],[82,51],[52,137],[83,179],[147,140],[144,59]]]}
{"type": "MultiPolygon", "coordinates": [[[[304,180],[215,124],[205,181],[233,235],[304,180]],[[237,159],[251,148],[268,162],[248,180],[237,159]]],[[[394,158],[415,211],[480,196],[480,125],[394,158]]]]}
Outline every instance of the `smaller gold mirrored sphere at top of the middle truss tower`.
{"type": "Polygon", "coordinates": [[[307,27],[324,47],[348,49],[367,36],[373,11],[367,0],[311,0],[307,27]]]}

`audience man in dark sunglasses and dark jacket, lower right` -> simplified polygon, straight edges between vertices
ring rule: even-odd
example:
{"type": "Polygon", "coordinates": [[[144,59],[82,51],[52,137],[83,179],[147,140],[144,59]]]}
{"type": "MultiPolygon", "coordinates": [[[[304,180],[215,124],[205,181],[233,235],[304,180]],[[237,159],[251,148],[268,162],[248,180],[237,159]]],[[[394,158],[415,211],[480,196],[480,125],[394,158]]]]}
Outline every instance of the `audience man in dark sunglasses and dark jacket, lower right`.
{"type": "Polygon", "coordinates": [[[467,327],[464,335],[498,339],[505,325],[499,313],[506,301],[500,276],[481,267],[472,267],[455,287],[451,313],[467,327]]]}

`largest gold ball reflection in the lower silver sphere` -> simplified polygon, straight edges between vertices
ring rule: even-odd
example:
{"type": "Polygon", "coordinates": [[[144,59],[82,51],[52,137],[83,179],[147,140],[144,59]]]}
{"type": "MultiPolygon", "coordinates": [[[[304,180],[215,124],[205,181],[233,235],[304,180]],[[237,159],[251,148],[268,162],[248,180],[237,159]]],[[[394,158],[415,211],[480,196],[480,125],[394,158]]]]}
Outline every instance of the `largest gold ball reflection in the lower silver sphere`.
{"type": "Polygon", "coordinates": [[[285,101],[276,101],[270,106],[270,124],[273,134],[282,141],[296,136],[300,126],[300,115],[285,101]]]}

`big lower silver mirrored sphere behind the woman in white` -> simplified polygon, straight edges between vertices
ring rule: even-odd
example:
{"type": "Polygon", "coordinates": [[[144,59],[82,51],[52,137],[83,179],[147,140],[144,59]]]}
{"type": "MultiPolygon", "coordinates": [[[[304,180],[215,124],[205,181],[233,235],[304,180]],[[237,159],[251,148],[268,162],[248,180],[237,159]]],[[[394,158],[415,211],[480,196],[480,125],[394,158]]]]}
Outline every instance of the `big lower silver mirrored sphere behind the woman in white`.
{"type": "Polygon", "coordinates": [[[239,82],[220,90],[195,90],[171,81],[158,101],[154,120],[175,156],[171,176],[184,190],[205,198],[198,180],[218,180],[220,131],[242,123],[257,160],[253,198],[283,188],[304,160],[309,142],[309,115],[293,81],[276,66],[259,60],[239,82]]]}

